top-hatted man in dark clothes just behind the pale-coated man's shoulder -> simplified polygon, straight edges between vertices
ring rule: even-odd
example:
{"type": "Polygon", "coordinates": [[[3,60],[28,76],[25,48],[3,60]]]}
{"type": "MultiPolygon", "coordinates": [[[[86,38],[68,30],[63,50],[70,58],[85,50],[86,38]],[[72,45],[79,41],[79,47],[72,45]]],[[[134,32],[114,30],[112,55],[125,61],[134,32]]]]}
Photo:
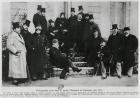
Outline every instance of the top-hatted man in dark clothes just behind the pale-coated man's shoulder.
{"type": "Polygon", "coordinates": [[[32,55],[32,47],[31,47],[31,40],[32,40],[32,34],[28,31],[28,28],[30,26],[30,21],[26,20],[23,24],[23,27],[21,29],[21,35],[25,41],[25,46],[27,49],[27,65],[29,68],[29,72],[31,72],[31,55],[32,55]]]}

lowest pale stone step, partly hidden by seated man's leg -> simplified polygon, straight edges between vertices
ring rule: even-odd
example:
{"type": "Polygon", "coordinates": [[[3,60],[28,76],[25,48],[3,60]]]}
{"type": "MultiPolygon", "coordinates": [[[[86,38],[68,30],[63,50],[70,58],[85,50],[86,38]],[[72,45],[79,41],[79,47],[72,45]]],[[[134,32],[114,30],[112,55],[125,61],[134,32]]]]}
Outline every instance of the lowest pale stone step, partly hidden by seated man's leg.
{"type": "MultiPolygon", "coordinates": [[[[69,68],[69,73],[67,73],[68,76],[73,76],[73,77],[77,77],[77,76],[90,76],[93,75],[94,72],[94,68],[93,67],[80,67],[80,69],[82,69],[81,72],[73,72],[72,68],[69,68]]],[[[54,70],[54,77],[57,77],[61,74],[62,69],[60,68],[53,68],[54,70]]]]}

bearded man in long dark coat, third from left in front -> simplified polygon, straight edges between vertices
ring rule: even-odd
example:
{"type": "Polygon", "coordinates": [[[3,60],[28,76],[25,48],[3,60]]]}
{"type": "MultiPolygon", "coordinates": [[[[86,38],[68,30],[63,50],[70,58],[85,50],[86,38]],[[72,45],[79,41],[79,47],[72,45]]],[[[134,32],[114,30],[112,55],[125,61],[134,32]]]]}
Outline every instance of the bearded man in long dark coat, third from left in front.
{"type": "Polygon", "coordinates": [[[45,64],[48,62],[46,59],[47,41],[44,35],[41,35],[41,26],[36,26],[35,33],[32,37],[32,80],[47,79],[45,76],[45,64]]]}

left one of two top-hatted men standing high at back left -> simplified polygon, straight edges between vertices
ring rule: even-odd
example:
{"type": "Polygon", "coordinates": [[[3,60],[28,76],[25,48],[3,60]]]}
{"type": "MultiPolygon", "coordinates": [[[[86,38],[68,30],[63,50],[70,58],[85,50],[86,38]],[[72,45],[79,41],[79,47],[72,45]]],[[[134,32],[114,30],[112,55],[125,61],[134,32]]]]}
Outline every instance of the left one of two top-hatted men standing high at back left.
{"type": "Polygon", "coordinates": [[[42,10],[41,5],[38,5],[38,7],[37,7],[37,13],[34,14],[34,16],[33,16],[33,24],[34,24],[35,27],[38,24],[41,24],[41,18],[42,18],[41,10],[42,10]]]}

